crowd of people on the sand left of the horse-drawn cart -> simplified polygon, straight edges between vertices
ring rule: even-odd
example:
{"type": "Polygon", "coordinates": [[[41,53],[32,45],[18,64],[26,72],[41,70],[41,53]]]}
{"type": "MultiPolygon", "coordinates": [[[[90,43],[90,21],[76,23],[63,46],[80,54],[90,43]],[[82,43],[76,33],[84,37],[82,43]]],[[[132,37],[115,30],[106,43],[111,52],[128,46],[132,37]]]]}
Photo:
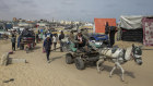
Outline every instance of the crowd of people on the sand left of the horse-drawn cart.
{"type": "Polygon", "coordinates": [[[64,38],[64,34],[61,30],[60,35],[58,36],[58,34],[51,34],[50,30],[42,30],[38,29],[37,33],[34,33],[34,30],[31,30],[30,28],[25,28],[22,33],[19,34],[17,36],[17,32],[13,30],[11,32],[11,42],[12,42],[12,51],[16,50],[16,47],[20,48],[21,46],[21,40],[23,37],[33,37],[34,38],[34,42],[39,42],[39,41],[44,41],[43,44],[43,49],[46,52],[46,57],[47,57],[47,61],[49,62],[49,54],[51,51],[51,46],[54,46],[52,50],[57,50],[57,42],[59,41],[60,44],[60,51],[62,52],[62,47],[63,47],[63,42],[62,39],[64,38]],[[16,39],[17,37],[17,39],[16,39]],[[16,45],[17,42],[17,45],[16,45]]]}

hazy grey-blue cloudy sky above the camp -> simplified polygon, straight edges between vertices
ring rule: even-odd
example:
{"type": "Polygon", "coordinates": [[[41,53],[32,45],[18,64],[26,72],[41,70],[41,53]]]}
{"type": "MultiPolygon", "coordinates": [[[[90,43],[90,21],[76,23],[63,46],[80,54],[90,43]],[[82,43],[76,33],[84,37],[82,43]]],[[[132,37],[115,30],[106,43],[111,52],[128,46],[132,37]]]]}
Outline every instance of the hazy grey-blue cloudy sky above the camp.
{"type": "Polygon", "coordinates": [[[153,0],[0,0],[0,20],[68,20],[153,15],[153,0]]]}

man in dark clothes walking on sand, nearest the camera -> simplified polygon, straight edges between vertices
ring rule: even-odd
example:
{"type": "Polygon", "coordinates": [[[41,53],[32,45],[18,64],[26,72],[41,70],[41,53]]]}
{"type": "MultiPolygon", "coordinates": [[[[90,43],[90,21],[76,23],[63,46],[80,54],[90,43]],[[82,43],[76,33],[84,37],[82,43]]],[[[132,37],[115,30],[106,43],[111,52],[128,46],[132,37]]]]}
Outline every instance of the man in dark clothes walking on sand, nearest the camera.
{"type": "Polygon", "coordinates": [[[49,35],[47,35],[47,38],[44,40],[44,49],[46,51],[48,63],[49,63],[49,54],[50,54],[51,45],[52,45],[51,38],[49,35]]]}

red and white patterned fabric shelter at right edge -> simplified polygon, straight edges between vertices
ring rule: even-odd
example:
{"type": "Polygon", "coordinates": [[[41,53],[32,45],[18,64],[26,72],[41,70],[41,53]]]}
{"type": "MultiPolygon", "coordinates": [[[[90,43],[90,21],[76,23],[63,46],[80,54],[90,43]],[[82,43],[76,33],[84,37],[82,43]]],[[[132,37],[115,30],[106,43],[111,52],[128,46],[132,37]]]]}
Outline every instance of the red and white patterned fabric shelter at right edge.
{"type": "Polygon", "coordinates": [[[142,19],[143,45],[153,46],[153,16],[142,19]]]}

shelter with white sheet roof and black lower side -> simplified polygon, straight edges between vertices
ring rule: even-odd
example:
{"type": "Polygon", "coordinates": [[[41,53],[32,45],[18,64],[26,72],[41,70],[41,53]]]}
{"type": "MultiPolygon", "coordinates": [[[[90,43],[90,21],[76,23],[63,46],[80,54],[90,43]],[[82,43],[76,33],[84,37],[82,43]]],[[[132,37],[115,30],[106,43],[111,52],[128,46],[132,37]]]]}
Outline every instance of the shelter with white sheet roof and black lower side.
{"type": "Polygon", "coordinates": [[[142,15],[120,16],[121,39],[126,41],[143,41],[142,15]]]}

